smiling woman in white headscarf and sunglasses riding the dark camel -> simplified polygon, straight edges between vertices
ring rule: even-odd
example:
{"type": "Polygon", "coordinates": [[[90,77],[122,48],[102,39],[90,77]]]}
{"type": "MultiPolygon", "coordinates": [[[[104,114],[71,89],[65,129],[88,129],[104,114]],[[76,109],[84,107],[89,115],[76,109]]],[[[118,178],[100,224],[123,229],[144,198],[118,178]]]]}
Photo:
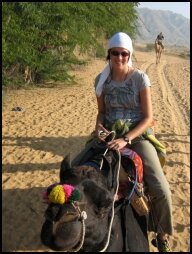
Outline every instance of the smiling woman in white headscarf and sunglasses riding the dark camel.
{"type": "MultiPolygon", "coordinates": [[[[146,73],[132,66],[133,46],[131,38],[122,32],[109,40],[104,70],[95,79],[98,115],[95,133],[109,133],[118,121],[128,131],[107,142],[112,150],[121,152],[125,147],[135,151],[144,164],[144,182],[151,197],[156,220],[149,221],[149,231],[157,234],[160,252],[170,252],[167,235],[173,234],[172,200],[169,183],[158,158],[157,147],[146,138],[146,132],[153,122],[151,84],[146,73]]],[[[159,142],[156,142],[159,145],[159,142]]],[[[78,155],[73,163],[78,164],[86,153],[78,155]]]]}

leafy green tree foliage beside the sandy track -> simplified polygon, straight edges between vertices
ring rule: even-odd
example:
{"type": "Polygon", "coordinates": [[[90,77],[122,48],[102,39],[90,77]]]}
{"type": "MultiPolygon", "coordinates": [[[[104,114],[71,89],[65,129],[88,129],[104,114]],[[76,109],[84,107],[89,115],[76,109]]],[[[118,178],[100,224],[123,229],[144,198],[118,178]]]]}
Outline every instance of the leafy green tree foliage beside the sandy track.
{"type": "Polygon", "coordinates": [[[70,80],[78,45],[102,51],[103,38],[117,31],[134,36],[138,3],[4,2],[3,85],[70,80]]]}

